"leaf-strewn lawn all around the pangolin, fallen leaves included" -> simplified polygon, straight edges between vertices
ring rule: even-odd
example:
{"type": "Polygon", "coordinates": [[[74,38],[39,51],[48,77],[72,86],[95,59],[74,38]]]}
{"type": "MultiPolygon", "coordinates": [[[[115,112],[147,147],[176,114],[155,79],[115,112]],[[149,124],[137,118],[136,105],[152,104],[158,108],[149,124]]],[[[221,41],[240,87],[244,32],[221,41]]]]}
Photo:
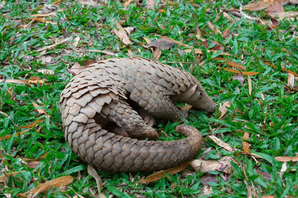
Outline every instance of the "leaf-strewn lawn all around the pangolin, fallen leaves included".
{"type": "MultiPolygon", "coordinates": [[[[0,197],[297,197],[297,5],[250,3],[1,1],[0,197]],[[191,72],[216,104],[184,107],[203,146],[164,177],[90,174],[64,139],[71,67],[129,56],[191,72]]],[[[157,120],[158,140],[177,124],[157,120]]]]}

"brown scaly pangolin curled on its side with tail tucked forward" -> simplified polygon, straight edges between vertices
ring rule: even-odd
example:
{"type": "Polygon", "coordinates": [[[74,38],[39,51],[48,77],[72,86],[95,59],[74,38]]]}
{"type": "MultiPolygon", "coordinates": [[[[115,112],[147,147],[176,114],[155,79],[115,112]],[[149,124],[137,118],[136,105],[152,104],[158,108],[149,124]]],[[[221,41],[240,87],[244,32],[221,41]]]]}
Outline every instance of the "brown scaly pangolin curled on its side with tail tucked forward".
{"type": "Polygon", "coordinates": [[[75,75],[60,94],[65,139],[81,159],[109,172],[151,172],[179,165],[201,148],[197,129],[178,125],[176,131],[187,138],[145,140],[158,138],[153,117],[187,118],[187,111],[174,102],[215,111],[198,80],[181,69],[145,58],[98,61],[75,75]]]}

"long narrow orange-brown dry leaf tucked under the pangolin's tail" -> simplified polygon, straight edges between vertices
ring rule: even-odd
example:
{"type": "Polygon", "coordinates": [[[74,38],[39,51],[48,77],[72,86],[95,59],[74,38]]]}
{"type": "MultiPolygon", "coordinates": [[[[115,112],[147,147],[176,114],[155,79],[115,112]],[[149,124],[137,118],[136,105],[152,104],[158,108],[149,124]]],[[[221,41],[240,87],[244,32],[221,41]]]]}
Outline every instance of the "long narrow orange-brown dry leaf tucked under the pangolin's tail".
{"type": "Polygon", "coordinates": [[[192,161],[193,160],[184,162],[183,164],[180,164],[180,165],[172,167],[172,168],[168,168],[166,170],[158,171],[152,175],[149,175],[148,177],[146,177],[145,180],[142,180],[140,183],[148,183],[148,182],[160,180],[160,178],[162,178],[162,177],[165,178],[166,177],[165,172],[167,172],[171,175],[174,175],[177,172],[180,172],[180,171],[184,170],[185,168],[187,168],[188,166],[190,166],[192,161]]]}

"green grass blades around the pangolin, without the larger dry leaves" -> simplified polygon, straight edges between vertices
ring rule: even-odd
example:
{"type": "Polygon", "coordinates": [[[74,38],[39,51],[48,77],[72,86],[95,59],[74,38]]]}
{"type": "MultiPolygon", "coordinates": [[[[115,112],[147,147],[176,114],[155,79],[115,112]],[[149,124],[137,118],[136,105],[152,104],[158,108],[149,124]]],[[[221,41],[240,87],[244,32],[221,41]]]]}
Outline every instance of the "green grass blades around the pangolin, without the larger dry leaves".
{"type": "MultiPolygon", "coordinates": [[[[236,22],[232,23],[220,13],[220,9],[239,8],[240,4],[246,5],[250,1],[218,1],[193,3],[201,7],[193,6],[192,2],[173,1],[174,6],[167,1],[159,3],[158,8],[146,9],[137,7],[136,2],[123,9],[120,1],[98,2],[96,7],[82,7],[78,1],[61,1],[53,6],[52,1],[6,1],[1,9],[0,24],[0,61],[1,79],[30,79],[38,76],[45,80],[43,85],[25,85],[19,83],[0,83],[0,111],[9,117],[0,114],[1,137],[12,135],[13,137],[0,141],[0,166],[2,174],[8,172],[22,171],[17,175],[10,176],[8,180],[0,183],[0,197],[11,195],[16,197],[17,193],[24,193],[41,183],[55,178],[71,175],[75,180],[68,187],[62,189],[50,189],[40,193],[37,197],[73,197],[75,192],[83,197],[97,197],[98,190],[95,180],[87,173],[87,164],[72,153],[64,139],[59,113],[59,94],[73,76],[67,68],[75,62],[81,63],[89,58],[100,59],[111,58],[101,52],[89,52],[84,50],[105,50],[117,53],[119,57],[128,57],[128,49],[135,56],[153,58],[153,52],[143,48],[139,43],[146,45],[143,37],[151,41],[156,36],[162,35],[173,38],[184,44],[203,50],[203,55],[188,53],[179,55],[178,50],[187,49],[181,45],[174,45],[170,50],[162,50],[157,61],[195,62],[193,75],[198,77],[203,87],[209,92],[214,102],[222,104],[230,101],[231,106],[223,118],[218,115],[208,115],[204,112],[190,110],[190,117],[185,121],[195,126],[203,134],[203,150],[196,157],[202,157],[205,149],[212,150],[204,155],[206,160],[219,161],[221,156],[234,156],[240,167],[232,164],[235,169],[227,180],[219,179],[218,183],[210,182],[209,191],[204,190],[200,177],[205,173],[180,172],[176,175],[167,175],[157,182],[138,184],[142,177],[152,173],[140,172],[136,174],[114,174],[98,170],[103,180],[101,192],[106,197],[244,197],[249,189],[253,197],[272,195],[272,197],[295,197],[298,194],[297,162],[286,162],[287,170],[280,177],[283,162],[279,162],[276,156],[296,156],[298,152],[298,102],[297,90],[288,88],[288,74],[282,70],[282,66],[298,73],[298,50],[297,50],[297,20],[281,20],[277,29],[268,30],[266,26],[244,17],[232,16],[236,22]],[[63,11],[57,12],[63,8],[63,11]],[[34,22],[24,28],[30,20],[31,14],[55,12],[55,16],[47,16],[46,20],[57,23],[45,24],[34,22]],[[130,46],[121,43],[111,30],[116,28],[115,21],[124,20],[123,27],[132,26],[135,31],[129,35],[130,46]],[[221,32],[229,28],[232,32],[228,38],[223,39],[221,34],[213,33],[207,26],[210,21],[221,32]],[[232,80],[235,73],[218,68],[218,61],[212,57],[216,54],[207,53],[206,48],[201,47],[195,38],[198,25],[203,37],[209,41],[217,41],[224,45],[224,52],[233,56],[224,56],[229,60],[243,64],[247,71],[259,72],[251,76],[252,94],[249,95],[247,76],[243,84],[238,80],[232,80]],[[165,27],[162,28],[162,25],[165,27]],[[64,32],[64,33],[63,33],[64,32]],[[51,56],[50,63],[42,63],[38,56],[40,52],[35,50],[55,43],[55,39],[65,39],[66,35],[80,37],[77,47],[70,42],[57,45],[46,51],[43,57],[51,56]],[[190,35],[189,35],[190,34],[190,35]],[[98,35],[98,37],[97,37],[98,35]],[[62,38],[63,37],[63,38],[62,38]],[[283,50],[285,48],[287,51],[283,50]],[[32,60],[26,57],[33,56],[32,60]],[[237,56],[234,56],[237,55],[237,56]],[[258,60],[269,61],[277,68],[264,64],[258,60]],[[199,66],[201,61],[204,64],[199,66]],[[20,66],[21,65],[22,69],[20,66]],[[37,69],[50,69],[54,75],[37,72],[37,69]],[[9,90],[8,90],[9,89],[9,90]],[[11,94],[16,94],[12,97],[11,94]],[[262,96],[264,99],[262,99],[262,96]],[[47,115],[39,115],[37,108],[32,102],[37,103],[47,115]],[[21,128],[39,118],[38,126],[17,135],[18,132],[27,130],[21,128]],[[15,125],[14,125],[15,123],[15,125]],[[264,124],[264,128],[262,129],[264,124]],[[213,129],[211,131],[209,127],[213,129]],[[246,127],[247,128],[246,128],[246,127]],[[257,153],[263,158],[239,154],[243,150],[243,132],[250,133],[251,153],[257,153]],[[226,151],[216,145],[208,135],[218,136],[224,142],[238,149],[236,152],[226,151]],[[14,136],[16,135],[16,136],[14,136]],[[45,159],[39,159],[37,167],[29,168],[22,163],[24,158],[35,159],[47,154],[45,159]],[[271,180],[267,180],[256,170],[269,173],[271,180]],[[148,190],[142,193],[125,193],[125,189],[148,190]],[[169,190],[162,192],[153,190],[169,190]],[[152,190],[153,192],[150,192],[152,190]]],[[[145,6],[143,1],[142,5],[145,6]]],[[[284,5],[285,11],[297,10],[295,5],[284,5]]],[[[259,12],[246,12],[254,17],[260,17],[263,21],[270,20],[259,12]]],[[[59,40],[58,40],[59,41],[59,40]]],[[[57,41],[57,42],[58,42],[57,41]]],[[[219,56],[223,57],[223,56],[219,56]]],[[[29,58],[30,59],[30,58],[29,58]]],[[[190,63],[167,63],[174,67],[184,68],[186,71],[193,67],[190,63]]],[[[224,64],[223,67],[226,67],[224,64]]],[[[295,80],[295,85],[297,80],[295,80]]],[[[156,128],[170,135],[171,140],[179,139],[174,132],[174,126],[167,120],[159,120],[156,128]]],[[[161,137],[160,140],[164,140],[161,137]]],[[[24,161],[23,161],[24,162],[24,161]]],[[[28,161],[27,161],[28,162],[28,161]]],[[[212,172],[219,174],[219,172],[212,172]]]]}

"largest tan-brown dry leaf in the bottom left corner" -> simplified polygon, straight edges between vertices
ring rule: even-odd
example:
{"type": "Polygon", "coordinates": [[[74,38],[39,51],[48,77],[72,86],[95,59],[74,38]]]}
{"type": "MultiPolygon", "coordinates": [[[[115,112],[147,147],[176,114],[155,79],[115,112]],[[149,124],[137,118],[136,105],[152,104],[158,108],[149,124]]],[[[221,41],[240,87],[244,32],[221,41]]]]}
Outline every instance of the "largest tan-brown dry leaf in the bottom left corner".
{"type": "Polygon", "coordinates": [[[54,186],[54,189],[60,188],[62,186],[66,186],[68,184],[71,184],[73,180],[74,180],[74,178],[72,176],[66,175],[66,176],[56,178],[56,179],[47,181],[45,183],[42,183],[42,184],[36,186],[34,189],[32,189],[30,191],[27,191],[23,194],[18,193],[18,195],[21,196],[21,197],[27,197],[26,194],[29,194],[31,192],[32,192],[32,194],[34,194],[36,192],[39,192],[39,193],[45,192],[45,191],[48,191],[49,189],[51,189],[52,186],[54,186]]]}

